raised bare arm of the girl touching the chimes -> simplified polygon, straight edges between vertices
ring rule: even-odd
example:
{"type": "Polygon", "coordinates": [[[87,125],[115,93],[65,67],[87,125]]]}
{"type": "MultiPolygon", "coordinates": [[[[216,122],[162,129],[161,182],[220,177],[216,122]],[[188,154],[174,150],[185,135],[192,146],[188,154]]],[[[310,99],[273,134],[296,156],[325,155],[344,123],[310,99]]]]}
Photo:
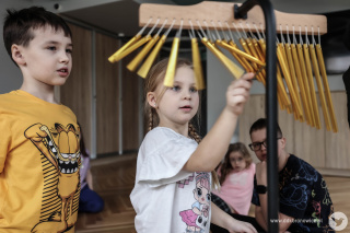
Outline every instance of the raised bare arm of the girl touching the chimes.
{"type": "Polygon", "coordinates": [[[226,106],[208,135],[199,143],[197,150],[184,165],[184,170],[211,172],[220,163],[228,151],[231,138],[236,128],[238,115],[242,114],[254,73],[246,73],[228,88],[226,106]]]}

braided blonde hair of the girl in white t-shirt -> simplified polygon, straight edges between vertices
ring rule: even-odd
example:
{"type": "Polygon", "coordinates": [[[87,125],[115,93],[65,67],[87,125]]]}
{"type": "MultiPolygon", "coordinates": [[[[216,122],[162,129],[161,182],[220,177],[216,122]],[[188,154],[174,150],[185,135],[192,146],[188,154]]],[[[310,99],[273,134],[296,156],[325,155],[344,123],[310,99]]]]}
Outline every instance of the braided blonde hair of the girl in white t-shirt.
{"type": "MultiPolygon", "coordinates": [[[[166,68],[167,68],[167,63],[168,63],[168,58],[159,61],[156,65],[154,65],[152,67],[152,69],[150,70],[150,72],[145,77],[145,81],[144,81],[144,94],[145,94],[144,114],[145,114],[147,123],[148,123],[148,131],[152,130],[154,127],[156,127],[160,124],[160,118],[156,114],[155,108],[152,107],[148,103],[147,94],[149,92],[154,92],[156,90],[156,88],[163,83],[166,68]]],[[[176,62],[176,70],[182,67],[188,67],[190,69],[194,69],[192,63],[189,60],[184,59],[184,58],[178,58],[177,62],[176,62]]],[[[166,86],[162,85],[162,90],[160,92],[161,94],[158,96],[156,106],[159,106],[159,103],[160,103],[162,96],[164,95],[165,91],[166,91],[166,86]]],[[[197,116],[197,119],[199,120],[199,114],[196,114],[196,116],[197,116]]],[[[199,143],[201,141],[201,137],[197,133],[197,130],[192,124],[194,118],[188,123],[188,135],[194,140],[196,140],[197,143],[199,143]]],[[[211,174],[212,174],[212,179],[213,179],[212,187],[213,188],[215,186],[219,187],[219,178],[218,178],[217,172],[212,171],[211,174]]]]}

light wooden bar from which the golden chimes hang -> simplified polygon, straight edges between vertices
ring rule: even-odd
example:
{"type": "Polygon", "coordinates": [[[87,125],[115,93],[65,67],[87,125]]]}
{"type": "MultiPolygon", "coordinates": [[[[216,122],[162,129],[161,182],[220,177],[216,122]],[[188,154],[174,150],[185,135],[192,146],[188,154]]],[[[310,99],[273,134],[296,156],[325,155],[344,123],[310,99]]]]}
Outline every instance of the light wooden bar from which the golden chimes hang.
{"type": "MultiPolygon", "coordinates": [[[[210,22],[229,22],[229,26],[231,30],[234,30],[234,25],[232,25],[232,22],[240,23],[242,20],[235,20],[233,15],[233,8],[234,4],[241,5],[241,3],[234,3],[234,2],[213,2],[213,1],[203,1],[198,4],[194,5],[168,5],[168,4],[154,4],[154,3],[143,3],[140,5],[139,10],[139,25],[144,26],[151,18],[153,19],[161,19],[161,21],[168,19],[177,19],[177,21],[174,24],[174,28],[179,28],[180,26],[180,20],[184,20],[183,22],[183,28],[191,28],[190,23],[188,20],[191,20],[192,22],[199,21],[208,22],[208,28],[214,30],[214,25],[212,25],[210,22]]],[[[301,26],[301,33],[302,34],[310,34],[312,32],[312,28],[319,27],[319,34],[326,34],[327,33],[327,18],[324,15],[311,15],[311,14],[290,14],[284,13],[280,11],[275,10],[276,15],[276,25],[277,25],[277,32],[280,32],[282,30],[282,33],[287,33],[287,28],[279,28],[279,25],[294,25],[295,27],[301,26]]],[[[260,26],[262,24],[262,28],[265,30],[265,21],[264,21],[264,14],[261,9],[256,5],[254,7],[247,15],[247,20],[244,20],[244,25],[242,25],[242,30],[248,32],[249,27],[247,25],[257,24],[260,26]]],[[[151,22],[149,26],[153,26],[155,23],[155,20],[153,23],[151,22]]],[[[162,23],[161,23],[162,24],[162,23]]],[[[165,24],[165,27],[168,27],[172,24],[172,22],[167,22],[165,24]]],[[[194,24],[195,28],[199,28],[198,25],[194,24]]]]}

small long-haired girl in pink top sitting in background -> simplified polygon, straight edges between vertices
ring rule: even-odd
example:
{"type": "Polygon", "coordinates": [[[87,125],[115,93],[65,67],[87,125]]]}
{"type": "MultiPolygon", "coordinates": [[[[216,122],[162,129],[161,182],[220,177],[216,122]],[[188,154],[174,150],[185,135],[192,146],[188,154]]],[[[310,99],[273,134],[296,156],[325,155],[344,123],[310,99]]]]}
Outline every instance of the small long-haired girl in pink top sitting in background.
{"type": "Polygon", "coordinates": [[[255,163],[242,142],[230,144],[223,163],[218,168],[220,190],[211,198],[219,208],[229,213],[247,215],[254,188],[255,163]]]}

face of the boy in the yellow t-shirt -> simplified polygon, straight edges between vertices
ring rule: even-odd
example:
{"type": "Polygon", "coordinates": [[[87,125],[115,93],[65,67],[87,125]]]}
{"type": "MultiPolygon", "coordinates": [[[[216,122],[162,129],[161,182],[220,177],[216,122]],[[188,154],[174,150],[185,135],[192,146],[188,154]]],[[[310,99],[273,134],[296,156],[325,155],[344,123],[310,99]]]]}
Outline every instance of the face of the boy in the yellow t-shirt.
{"type": "Polygon", "coordinates": [[[24,80],[36,86],[65,84],[72,68],[71,38],[50,26],[34,30],[33,34],[27,47],[19,46],[24,80]]]}

